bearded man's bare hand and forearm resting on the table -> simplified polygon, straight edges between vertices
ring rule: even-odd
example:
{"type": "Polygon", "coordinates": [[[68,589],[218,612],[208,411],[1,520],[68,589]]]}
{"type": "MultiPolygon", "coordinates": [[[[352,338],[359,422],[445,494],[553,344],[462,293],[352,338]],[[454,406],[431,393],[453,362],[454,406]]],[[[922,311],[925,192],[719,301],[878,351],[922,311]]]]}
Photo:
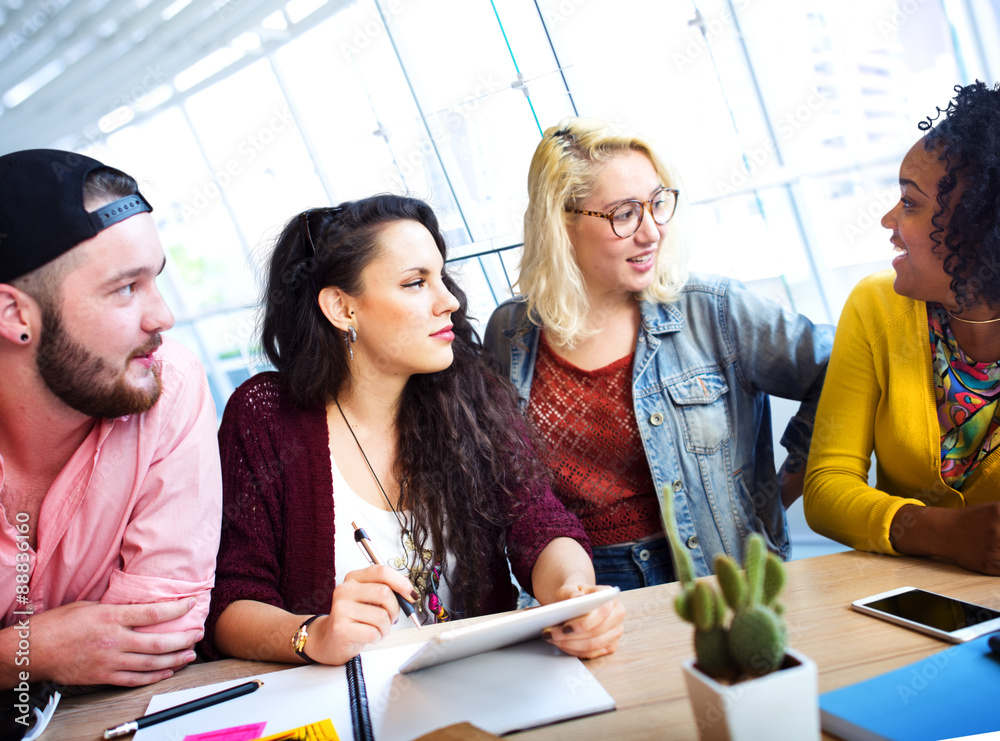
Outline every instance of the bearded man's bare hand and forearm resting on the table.
{"type": "MultiPolygon", "coordinates": [[[[67,685],[137,687],[171,676],[195,658],[201,629],[147,633],[138,627],[175,620],[195,604],[192,598],[143,605],[73,602],[33,615],[29,621],[30,663],[14,666],[17,624],[0,632],[4,686],[20,671],[31,681],[67,685]]],[[[16,682],[15,682],[16,684],[16,682]]]]}

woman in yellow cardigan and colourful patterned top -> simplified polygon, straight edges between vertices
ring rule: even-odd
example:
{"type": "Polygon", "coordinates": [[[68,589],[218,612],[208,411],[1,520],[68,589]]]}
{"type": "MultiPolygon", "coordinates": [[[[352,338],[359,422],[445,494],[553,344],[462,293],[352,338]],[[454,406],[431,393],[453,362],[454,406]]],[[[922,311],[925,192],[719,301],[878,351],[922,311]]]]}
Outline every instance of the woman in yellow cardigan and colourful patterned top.
{"type": "Polygon", "coordinates": [[[1000,574],[1000,85],[955,90],[882,218],[894,272],[861,281],[840,317],[805,511],[859,550],[1000,574]]]}

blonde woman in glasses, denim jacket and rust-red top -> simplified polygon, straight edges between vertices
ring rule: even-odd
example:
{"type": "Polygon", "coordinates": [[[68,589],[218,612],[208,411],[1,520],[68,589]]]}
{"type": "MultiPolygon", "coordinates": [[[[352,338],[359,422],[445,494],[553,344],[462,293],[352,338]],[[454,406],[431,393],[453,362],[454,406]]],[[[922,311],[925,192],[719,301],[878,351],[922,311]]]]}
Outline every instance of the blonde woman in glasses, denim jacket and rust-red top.
{"type": "Polygon", "coordinates": [[[684,193],[645,139],[596,120],[545,132],[528,173],[521,296],[485,342],[583,522],[598,583],[672,581],[661,497],[699,574],[749,532],[790,552],[832,343],[727,278],[688,276],[684,193]],[[768,394],[802,404],[775,471],[768,394]],[[784,505],[784,506],[783,506],[784,505]]]}

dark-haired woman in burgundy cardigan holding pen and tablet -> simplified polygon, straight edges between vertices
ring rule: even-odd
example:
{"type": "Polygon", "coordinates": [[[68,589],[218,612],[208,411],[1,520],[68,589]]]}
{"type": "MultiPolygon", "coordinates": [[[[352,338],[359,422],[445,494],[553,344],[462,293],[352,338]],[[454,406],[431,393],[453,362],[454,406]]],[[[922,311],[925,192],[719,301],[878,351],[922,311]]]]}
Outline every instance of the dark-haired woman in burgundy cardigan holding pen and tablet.
{"type": "MultiPolygon", "coordinates": [[[[421,622],[510,610],[508,558],[542,603],[597,588],[444,260],[433,211],[398,196],[306,211],[278,238],[261,333],[277,372],[236,390],[219,431],[209,657],[342,664],[388,634],[394,592],[421,622]]],[[[611,653],[623,615],[606,603],[551,640],[611,653]]]]}

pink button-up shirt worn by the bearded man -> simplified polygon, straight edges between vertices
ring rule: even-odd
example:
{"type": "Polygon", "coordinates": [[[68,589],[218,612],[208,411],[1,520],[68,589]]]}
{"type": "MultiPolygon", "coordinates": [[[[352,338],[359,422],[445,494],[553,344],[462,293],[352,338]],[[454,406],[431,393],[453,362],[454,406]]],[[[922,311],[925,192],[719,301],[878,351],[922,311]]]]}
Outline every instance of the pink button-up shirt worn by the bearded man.
{"type": "MultiPolygon", "coordinates": [[[[11,525],[26,515],[0,517],[0,627],[79,600],[182,597],[197,604],[153,630],[204,623],[222,521],[215,405],[194,355],[170,339],[157,355],[159,401],[94,425],[45,495],[39,522],[26,523],[37,528],[38,550],[11,525]]],[[[0,486],[3,476],[0,456],[0,486]]]]}

